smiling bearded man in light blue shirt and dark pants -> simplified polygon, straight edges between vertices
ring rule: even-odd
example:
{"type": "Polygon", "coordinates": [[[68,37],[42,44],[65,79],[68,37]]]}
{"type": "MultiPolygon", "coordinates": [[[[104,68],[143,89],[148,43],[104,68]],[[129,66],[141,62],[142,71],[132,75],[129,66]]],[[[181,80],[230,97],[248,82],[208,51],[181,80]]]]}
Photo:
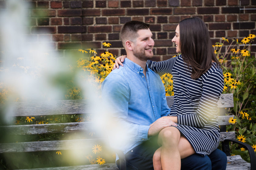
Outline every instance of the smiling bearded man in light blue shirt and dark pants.
{"type": "MultiPolygon", "coordinates": [[[[115,107],[115,118],[130,137],[130,143],[119,145],[125,154],[126,168],[154,169],[152,158],[159,148],[156,135],[176,124],[161,118],[170,111],[165,88],[159,75],[146,65],[153,57],[154,46],[149,24],[127,22],[120,36],[127,58],[123,67],[113,70],[102,83],[102,99],[115,107]]],[[[120,166],[118,158],[116,164],[120,166]]],[[[197,154],[182,159],[181,164],[182,169],[211,169],[209,157],[197,154]]]]}

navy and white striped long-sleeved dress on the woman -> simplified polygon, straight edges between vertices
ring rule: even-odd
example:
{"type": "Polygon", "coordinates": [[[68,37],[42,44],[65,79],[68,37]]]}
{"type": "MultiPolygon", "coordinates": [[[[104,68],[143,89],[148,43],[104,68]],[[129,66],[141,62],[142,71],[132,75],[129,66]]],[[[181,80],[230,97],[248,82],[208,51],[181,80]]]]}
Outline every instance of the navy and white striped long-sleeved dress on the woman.
{"type": "Polygon", "coordinates": [[[197,154],[209,155],[219,145],[217,101],[223,91],[222,68],[212,63],[206,73],[193,80],[192,68],[185,66],[181,55],[147,64],[155,72],[172,74],[174,103],[169,116],[177,116],[177,128],[197,154]]]}

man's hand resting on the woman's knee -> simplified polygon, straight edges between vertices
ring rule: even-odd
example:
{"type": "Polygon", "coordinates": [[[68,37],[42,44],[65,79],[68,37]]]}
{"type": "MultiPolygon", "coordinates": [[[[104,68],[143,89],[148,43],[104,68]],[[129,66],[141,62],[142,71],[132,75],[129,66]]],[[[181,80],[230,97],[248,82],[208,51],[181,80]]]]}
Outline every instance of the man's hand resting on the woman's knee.
{"type": "Polygon", "coordinates": [[[166,117],[161,117],[150,125],[150,128],[148,129],[148,136],[155,136],[163,128],[169,127],[169,126],[177,126],[177,124],[175,124],[172,120],[166,117]]]}

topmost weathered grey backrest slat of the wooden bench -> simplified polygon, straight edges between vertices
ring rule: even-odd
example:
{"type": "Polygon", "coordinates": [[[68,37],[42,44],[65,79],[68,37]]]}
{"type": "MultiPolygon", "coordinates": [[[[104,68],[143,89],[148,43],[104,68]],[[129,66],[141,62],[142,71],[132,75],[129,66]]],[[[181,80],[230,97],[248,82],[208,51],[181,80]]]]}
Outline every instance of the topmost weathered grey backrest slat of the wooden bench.
{"type": "MultiPolygon", "coordinates": [[[[170,107],[173,104],[173,96],[166,96],[166,100],[168,106],[170,107]]],[[[86,100],[15,102],[13,106],[12,113],[9,114],[12,117],[90,114],[86,100]]],[[[233,106],[233,94],[221,94],[221,97],[218,100],[218,107],[226,108],[233,106]]]]}

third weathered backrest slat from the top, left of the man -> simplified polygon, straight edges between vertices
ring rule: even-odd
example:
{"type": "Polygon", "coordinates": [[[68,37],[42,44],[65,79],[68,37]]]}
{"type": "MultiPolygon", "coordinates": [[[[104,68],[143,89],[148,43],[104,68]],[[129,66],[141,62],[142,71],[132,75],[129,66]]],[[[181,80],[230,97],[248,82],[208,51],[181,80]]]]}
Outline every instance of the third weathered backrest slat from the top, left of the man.
{"type": "Polygon", "coordinates": [[[0,144],[0,153],[3,152],[33,152],[56,150],[90,150],[95,144],[102,145],[103,139],[74,139],[62,141],[37,141],[0,144]]]}

